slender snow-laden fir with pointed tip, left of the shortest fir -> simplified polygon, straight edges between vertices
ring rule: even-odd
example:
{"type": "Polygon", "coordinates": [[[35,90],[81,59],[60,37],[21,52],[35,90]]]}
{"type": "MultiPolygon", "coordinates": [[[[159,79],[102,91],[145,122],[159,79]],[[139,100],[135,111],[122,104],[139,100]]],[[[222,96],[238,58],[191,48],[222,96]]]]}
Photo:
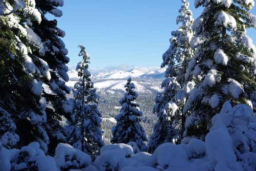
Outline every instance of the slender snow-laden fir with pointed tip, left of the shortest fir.
{"type": "Polygon", "coordinates": [[[68,127],[69,143],[77,149],[88,153],[93,158],[104,146],[102,141],[102,130],[100,129],[101,113],[97,104],[99,96],[93,88],[91,74],[88,70],[90,55],[86,53],[85,47],[79,45],[82,61],[77,64],[76,71],[80,77],[74,85],[74,121],[68,127]]]}

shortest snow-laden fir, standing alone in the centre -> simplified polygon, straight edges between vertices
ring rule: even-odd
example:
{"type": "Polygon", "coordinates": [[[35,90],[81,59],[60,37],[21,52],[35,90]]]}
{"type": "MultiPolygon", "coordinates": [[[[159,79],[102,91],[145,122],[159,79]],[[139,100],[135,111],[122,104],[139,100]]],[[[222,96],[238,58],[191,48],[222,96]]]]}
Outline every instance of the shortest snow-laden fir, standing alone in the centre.
{"type": "Polygon", "coordinates": [[[145,142],[147,137],[144,128],[141,127],[140,105],[136,103],[138,93],[134,90],[135,85],[132,79],[128,78],[126,85],[124,85],[126,93],[120,99],[121,105],[120,113],[116,115],[116,126],[112,127],[111,143],[135,142],[141,151],[146,151],[145,142]]]}

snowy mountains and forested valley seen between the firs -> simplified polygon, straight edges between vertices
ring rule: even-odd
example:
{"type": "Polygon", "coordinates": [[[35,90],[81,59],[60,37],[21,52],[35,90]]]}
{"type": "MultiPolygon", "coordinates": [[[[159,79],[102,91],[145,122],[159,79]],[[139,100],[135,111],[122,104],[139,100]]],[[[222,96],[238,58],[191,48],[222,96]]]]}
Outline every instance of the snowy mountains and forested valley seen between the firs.
{"type": "MultiPolygon", "coordinates": [[[[78,77],[74,70],[68,72],[70,81],[66,85],[73,87],[78,81],[78,77]]],[[[100,96],[98,109],[102,113],[101,128],[104,131],[103,140],[105,144],[110,144],[112,137],[111,128],[116,124],[115,116],[119,113],[119,100],[125,93],[124,85],[128,77],[132,77],[132,82],[135,84],[135,91],[138,92],[137,103],[140,104],[142,111],[141,126],[145,129],[147,138],[153,132],[153,127],[157,121],[157,116],[153,113],[153,106],[155,105],[155,97],[157,93],[162,91],[161,83],[164,77],[164,70],[158,69],[155,71],[149,70],[147,72],[139,70],[129,71],[108,71],[94,74],[92,81],[96,93],[100,96]],[[115,79],[114,79],[115,77],[115,79]]],[[[72,97],[72,92],[68,97],[72,97]]]]}

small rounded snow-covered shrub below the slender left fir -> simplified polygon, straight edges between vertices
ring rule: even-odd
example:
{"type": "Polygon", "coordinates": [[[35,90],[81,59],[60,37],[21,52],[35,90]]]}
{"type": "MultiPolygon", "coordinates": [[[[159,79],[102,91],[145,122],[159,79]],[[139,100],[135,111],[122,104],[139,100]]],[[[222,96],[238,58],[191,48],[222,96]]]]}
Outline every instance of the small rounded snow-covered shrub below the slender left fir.
{"type": "Polygon", "coordinates": [[[94,167],[91,166],[91,157],[81,150],[74,149],[69,144],[58,144],[55,150],[54,159],[59,170],[94,170],[94,167]]]}

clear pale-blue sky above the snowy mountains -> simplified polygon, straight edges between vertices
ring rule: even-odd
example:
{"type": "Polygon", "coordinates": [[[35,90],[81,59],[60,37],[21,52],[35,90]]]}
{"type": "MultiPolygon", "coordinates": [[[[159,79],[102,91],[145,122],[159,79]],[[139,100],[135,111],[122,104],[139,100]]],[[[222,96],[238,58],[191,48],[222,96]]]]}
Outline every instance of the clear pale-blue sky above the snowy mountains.
{"type": "MultiPolygon", "coordinates": [[[[202,8],[194,8],[193,18],[202,8]]],[[[162,54],[169,47],[171,31],[176,30],[176,17],[181,0],[64,0],[58,27],[66,32],[63,38],[69,50],[68,66],[81,61],[78,44],[91,55],[90,68],[122,65],[160,67],[162,54]]],[[[256,15],[256,7],[251,11],[256,15]]],[[[248,35],[256,44],[256,30],[248,35]]]]}

